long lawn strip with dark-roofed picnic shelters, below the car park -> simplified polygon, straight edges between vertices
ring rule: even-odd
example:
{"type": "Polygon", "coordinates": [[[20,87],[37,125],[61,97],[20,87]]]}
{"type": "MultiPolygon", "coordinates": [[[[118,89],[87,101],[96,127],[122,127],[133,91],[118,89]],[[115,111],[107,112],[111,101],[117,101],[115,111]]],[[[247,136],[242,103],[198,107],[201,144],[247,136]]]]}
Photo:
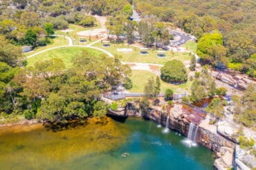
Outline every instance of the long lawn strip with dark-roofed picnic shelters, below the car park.
{"type": "Polygon", "coordinates": [[[165,64],[167,61],[178,59],[183,63],[185,61],[190,61],[191,56],[189,53],[180,53],[180,52],[171,52],[167,51],[165,53],[166,57],[158,57],[157,50],[148,50],[149,54],[141,55],[140,48],[133,47],[127,44],[112,44],[110,47],[102,47],[102,43],[95,43],[93,46],[100,47],[104,50],[111,52],[112,54],[118,54],[122,56],[122,61],[124,62],[137,62],[137,63],[156,63],[156,64],[165,64]],[[131,48],[132,52],[118,52],[118,48],[131,48]]]}

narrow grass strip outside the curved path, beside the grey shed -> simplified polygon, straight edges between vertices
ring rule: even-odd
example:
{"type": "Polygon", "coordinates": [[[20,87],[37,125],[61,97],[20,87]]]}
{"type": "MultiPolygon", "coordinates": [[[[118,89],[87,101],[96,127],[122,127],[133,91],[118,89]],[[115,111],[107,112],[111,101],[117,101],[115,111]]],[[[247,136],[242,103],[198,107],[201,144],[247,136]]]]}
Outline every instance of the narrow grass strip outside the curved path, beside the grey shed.
{"type": "Polygon", "coordinates": [[[50,45],[46,45],[44,47],[37,47],[35,48],[32,52],[26,52],[24,53],[25,56],[30,56],[32,54],[35,54],[37,52],[40,52],[42,50],[46,50],[46,49],[49,49],[51,47],[57,47],[57,46],[62,46],[62,45],[68,45],[68,40],[65,39],[64,37],[61,37],[61,36],[55,36],[55,37],[52,37],[51,39],[53,39],[53,43],[50,44],[50,45]]]}

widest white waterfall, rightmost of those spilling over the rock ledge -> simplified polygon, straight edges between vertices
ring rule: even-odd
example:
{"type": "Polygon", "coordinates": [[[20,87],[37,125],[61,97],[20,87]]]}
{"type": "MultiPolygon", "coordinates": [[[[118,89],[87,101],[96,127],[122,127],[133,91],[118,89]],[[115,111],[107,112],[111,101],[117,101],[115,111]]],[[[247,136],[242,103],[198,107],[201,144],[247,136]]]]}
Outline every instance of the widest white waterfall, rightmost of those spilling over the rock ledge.
{"type": "Polygon", "coordinates": [[[190,123],[190,127],[188,129],[188,138],[183,140],[185,145],[188,145],[188,147],[196,146],[197,131],[198,126],[194,125],[194,123],[190,123]]]}

